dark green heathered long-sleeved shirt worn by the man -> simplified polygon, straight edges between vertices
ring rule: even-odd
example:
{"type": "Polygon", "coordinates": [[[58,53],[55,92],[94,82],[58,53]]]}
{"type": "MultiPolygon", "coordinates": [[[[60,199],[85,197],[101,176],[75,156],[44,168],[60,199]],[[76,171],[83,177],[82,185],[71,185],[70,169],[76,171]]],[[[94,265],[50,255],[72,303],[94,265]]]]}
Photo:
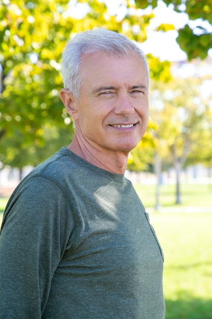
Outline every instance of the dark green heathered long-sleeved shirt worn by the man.
{"type": "Polygon", "coordinates": [[[1,319],[164,319],[162,275],[162,250],[124,175],[62,148],[11,196],[1,319]]]}

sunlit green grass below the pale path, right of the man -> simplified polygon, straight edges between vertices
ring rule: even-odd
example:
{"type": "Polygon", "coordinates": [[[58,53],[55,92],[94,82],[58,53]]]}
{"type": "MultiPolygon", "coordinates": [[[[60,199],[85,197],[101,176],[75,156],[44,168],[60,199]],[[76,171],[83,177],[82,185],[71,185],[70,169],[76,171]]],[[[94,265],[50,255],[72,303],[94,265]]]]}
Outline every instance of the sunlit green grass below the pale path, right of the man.
{"type": "Polygon", "coordinates": [[[212,318],[212,214],[150,214],[164,261],[166,319],[212,318]]]}

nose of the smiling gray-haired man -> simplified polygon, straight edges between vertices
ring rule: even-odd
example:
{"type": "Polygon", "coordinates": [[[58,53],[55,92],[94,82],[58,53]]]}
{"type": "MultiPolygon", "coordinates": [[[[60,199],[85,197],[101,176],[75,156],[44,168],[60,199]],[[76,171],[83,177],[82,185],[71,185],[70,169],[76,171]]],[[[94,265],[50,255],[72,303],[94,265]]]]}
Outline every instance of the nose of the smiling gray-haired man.
{"type": "Polygon", "coordinates": [[[119,94],[116,96],[113,110],[114,114],[130,116],[134,111],[133,103],[130,101],[128,94],[119,94]]]}

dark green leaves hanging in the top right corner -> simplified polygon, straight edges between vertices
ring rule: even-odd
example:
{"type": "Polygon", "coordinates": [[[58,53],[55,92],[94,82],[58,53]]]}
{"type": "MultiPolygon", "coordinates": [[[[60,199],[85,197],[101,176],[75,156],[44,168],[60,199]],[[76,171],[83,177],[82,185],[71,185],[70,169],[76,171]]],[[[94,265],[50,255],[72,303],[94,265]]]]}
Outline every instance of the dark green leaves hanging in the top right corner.
{"type": "MultiPolygon", "coordinates": [[[[177,43],[187,53],[188,60],[206,58],[208,50],[212,48],[212,35],[207,24],[203,24],[202,21],[208,22],[211,28],[212,0],[163,0],[163,2],[167,6],[171,4],[178,13],[188,14],[189,20],[196,20],[194,28],[186,24],[184,28],[178,30],[177,43]]],[[[135,0],[135,3],[141,9],[145,9],[149,5],[154,9],[158,5],[158,0],[135,0]]],[[[172,27],[170,26],[170,28],[172,27]]],[[[168,26],[161,25],[158,30],[168,31],[168,26]]]]}

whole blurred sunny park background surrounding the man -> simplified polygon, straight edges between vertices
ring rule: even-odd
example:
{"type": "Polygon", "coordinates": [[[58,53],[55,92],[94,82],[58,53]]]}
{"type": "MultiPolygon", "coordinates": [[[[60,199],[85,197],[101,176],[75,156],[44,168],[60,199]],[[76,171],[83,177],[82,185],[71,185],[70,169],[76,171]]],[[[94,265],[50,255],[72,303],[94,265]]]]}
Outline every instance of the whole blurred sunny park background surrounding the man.
{"type": "Polygon", "coordinates": [[[136,41],[150,68],[149,127],[126,176],[163,247],[166,319],[212,319],[211,0],[0,0],[1,218],[19,180],[71,142],[61,52],[96,27],[136,41]]]}

